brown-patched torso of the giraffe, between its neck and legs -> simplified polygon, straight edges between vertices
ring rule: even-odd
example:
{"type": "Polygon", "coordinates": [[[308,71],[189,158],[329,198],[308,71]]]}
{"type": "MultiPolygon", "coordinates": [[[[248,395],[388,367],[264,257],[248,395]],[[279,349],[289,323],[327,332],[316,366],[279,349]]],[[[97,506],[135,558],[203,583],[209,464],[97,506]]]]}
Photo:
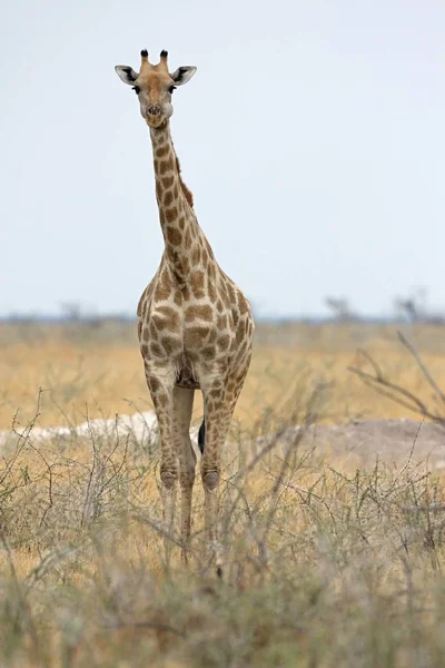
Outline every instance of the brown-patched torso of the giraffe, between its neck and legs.
{"type": "Polygon", "coordinates": [[[185,386],[196,386],[211,367],[230,369],[251,346],[248,302],[222,278],[216,276],[212,291],[206,291],[211,276],[200,272],[196,285],[190,281],[179,288],[162,262],[139,302],[144,360],[150,365],[171,363],[185,386]]]}

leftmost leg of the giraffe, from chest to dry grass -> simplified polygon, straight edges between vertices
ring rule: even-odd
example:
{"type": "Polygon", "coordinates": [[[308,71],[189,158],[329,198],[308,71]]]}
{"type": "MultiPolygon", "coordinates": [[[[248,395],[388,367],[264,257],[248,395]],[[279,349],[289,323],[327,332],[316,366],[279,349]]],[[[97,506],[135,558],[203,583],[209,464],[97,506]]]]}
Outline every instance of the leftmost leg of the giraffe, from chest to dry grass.
{"type": "Polygon", "coordinates": [[[160,480],[162,485],[162,509],[165,548],[167,559],[171,551],[176,490],[178,481],[178,461],[174,450],[172,404],[175,371],[170,366],[150,366],[146,364],[146,377],[159,424],[160,438],[160,480]]]}

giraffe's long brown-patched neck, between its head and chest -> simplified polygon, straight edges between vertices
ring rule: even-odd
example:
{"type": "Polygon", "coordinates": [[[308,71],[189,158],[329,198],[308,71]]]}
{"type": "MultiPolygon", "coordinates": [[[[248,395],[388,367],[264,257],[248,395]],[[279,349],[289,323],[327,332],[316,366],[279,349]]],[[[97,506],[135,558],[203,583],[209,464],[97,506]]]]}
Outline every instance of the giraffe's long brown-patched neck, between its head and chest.
{"type": "Polygon", "coordinates": [[[192,209],[192,196],[180,176],[169,124],[150,129],[155,160],[156,199],[165,240],[165,257],[180,285],[197,264],[197,248],[208,246],[192,209]]]}

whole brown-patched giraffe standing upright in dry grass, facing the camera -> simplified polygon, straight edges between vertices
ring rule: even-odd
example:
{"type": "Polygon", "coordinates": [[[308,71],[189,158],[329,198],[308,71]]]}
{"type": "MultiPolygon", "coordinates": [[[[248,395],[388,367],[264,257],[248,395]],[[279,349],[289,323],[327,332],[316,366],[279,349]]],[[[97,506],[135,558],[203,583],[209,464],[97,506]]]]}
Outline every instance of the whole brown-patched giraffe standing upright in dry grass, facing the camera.
{"type": "Polygon", "coordinates": [[[198,444],[205,537],[215,544],[220,451],[249,367],[254,320],[248,301],[219,267],[198,224],[171,141],[171,96],[191,79],[196,68],[180,67],[170,73],[167,51],[161,51],[157,65],[149,62],[145,49],[140,56],[138,73],[128,66],[115,69],[136,91],[150,130],[165,249],[139,301],[138,335],[159,423],[165,523],[172,528],[179,479],[182,558],[187,561],[196,466],[189,435],[194,394],[200,390],[204,397],[198,444]]]}

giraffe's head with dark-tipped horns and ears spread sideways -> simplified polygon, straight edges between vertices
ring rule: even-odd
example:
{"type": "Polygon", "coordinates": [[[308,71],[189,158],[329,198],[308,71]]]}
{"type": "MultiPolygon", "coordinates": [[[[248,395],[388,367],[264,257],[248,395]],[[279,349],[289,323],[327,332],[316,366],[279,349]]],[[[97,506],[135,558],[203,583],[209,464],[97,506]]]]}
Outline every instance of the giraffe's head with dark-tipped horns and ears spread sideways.
{"type": "Polygon", "coordinates": [[[161,51],[160,62],[151,65],[144,49],[140,52],[139,73],[126,65],[115,67],[123,84],[131,86],[136,91],[140,112],[150,128],[160,128],[170,118],[174,112],[171,95],[175,88],[187,84],[196,72],[196,67],[185,66],[170,73],[167,57],[167,51],[161,51]]]}

